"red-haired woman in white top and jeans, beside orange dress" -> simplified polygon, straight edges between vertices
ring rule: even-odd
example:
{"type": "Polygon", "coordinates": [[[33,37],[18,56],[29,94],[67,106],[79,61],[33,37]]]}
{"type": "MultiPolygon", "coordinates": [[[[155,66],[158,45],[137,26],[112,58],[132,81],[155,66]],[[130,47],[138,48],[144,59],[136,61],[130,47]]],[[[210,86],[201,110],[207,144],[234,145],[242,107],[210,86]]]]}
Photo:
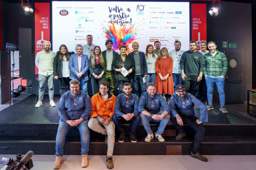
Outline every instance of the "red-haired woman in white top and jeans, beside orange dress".
{"type": "Polygon", "coordinates": [[[146,47],[146,62],[147,62],[147,78],[146,78],[146,85],[147,83],[154,83],[155,84],[155,61],[157,60],[157,55],[154,54],[154,47],[153,45],[149,44],[146,47]]]}

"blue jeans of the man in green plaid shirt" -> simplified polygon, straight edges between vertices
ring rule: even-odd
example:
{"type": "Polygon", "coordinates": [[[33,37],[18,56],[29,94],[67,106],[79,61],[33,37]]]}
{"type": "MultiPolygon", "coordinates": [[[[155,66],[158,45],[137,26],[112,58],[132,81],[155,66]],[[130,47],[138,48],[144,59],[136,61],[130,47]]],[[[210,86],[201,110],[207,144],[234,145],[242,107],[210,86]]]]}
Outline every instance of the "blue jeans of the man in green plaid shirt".
{"type": "Polygon", "coordinates": [[[224,106],[225,105],[224,78],[208,77],[208,76],[204,78],[206,79],[206,85],[207,85],[208,103],[212,105],[213,87],[214,87],[214,83],[216,83],[219,96],[220,96],[220,106],[224,106]]]}

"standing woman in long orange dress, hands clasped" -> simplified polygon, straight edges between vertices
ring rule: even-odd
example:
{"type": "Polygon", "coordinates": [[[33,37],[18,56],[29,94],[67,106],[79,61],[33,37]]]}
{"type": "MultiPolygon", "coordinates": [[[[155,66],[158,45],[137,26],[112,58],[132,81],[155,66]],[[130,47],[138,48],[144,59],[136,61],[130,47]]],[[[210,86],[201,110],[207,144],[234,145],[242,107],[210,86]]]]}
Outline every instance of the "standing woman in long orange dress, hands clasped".
{"type": "Polygon", "coordinates": [[[155,71],[157,73],[155,85],[157,93],[165,94],[168,101],[170,101],[169,98],[174,93],[172,67],[172,58],[169,56],[167,48],[163,47],[155,62],[155,71]]]}

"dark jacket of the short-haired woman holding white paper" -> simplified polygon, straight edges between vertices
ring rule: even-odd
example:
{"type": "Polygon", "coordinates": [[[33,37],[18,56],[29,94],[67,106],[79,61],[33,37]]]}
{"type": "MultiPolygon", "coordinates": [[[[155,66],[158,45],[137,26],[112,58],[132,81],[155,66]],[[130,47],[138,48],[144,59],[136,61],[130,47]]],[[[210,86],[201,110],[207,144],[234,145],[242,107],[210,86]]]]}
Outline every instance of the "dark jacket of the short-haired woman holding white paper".
{"type": "Polygon", "coordinates": [[[134,61],[133,59],[131,59],[130,56],[126,55],[125,56],[125,63],[124,65],[120,65],[119,61],[122,60],[121,55],[118,55],[117,57],[113,58],[113,62],[112,62],[112,70],[115,73],[115,80],[123,80],[123,81],[131,81],[132,79],[132,73],[128,74],[126,77],[123,76],[123,79],[121,78],[121,73],[119,71],[115,71],[115,69],[121,69],[122,67],[125,67],[125,69],[127,69],[127,71],[129,71],[129,69],[133,69],[133,71],[135,70],[135,65],[134,65],[134,61]]]}

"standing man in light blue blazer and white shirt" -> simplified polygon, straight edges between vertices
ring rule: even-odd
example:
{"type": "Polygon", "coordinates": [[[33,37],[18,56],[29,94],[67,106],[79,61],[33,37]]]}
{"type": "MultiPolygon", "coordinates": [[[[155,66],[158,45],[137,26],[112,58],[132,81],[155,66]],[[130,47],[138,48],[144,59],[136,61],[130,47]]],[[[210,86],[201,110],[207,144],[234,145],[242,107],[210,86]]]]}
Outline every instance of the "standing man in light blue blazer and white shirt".
{"type": "Polygon", "coordinates": [[[72,54],[69,59],[70,79],[80,81],[82,90],[87,93],[89,79],[87,74],[89,69],[88,56],[82,54],[83,47],[80,44],[76,46],[75,50],[77,53],[72,54]]]}

